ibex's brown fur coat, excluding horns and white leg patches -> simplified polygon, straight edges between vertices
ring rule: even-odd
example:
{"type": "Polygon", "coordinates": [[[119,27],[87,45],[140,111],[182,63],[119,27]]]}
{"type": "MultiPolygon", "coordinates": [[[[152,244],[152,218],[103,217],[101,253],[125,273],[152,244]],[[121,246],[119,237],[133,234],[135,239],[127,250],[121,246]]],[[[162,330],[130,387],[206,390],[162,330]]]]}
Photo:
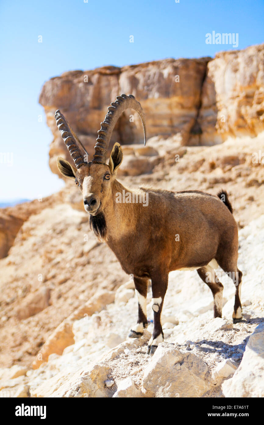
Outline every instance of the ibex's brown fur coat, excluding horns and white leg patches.
{"type": "MultiPolygon", "coordinates": [[[[171,192],[140,188],[136,192],[148,193],[148,206],[117,203],[117,192],[132,193],[115,178],[121,161],[121,147],[115,144],[108,165],[88,163],[76,170],[58,159],[58,167],[64,175],[78,182],[95,234],[112,249],[125,272],[133,274],[136,289],[144,297],[147,278],[151,279],[153,298],[161,297],[162,300],[158,312],[154,311],[155,340],[163,335],[160,314],[170,271],[195,267],[206,281],[206,268],[203,268],[215,259],[225,272],[241,274],[240,285],[242,273],[236,266],[238,231],[229,211],[230,202],[224,204],[217,196],[198,190],[171,192]],[[73,176],[69,176],[71,170],[73,176]],[[107,174],[110,174],[109,180],[106,180],[107,174]],[[92,201],[93,206],[90,205],[92,201]],[[179,241],[175,241],[177,234],[179,241]]],[[[214,297],[222,291],[221,283],[207,284],[214,297]]],[[[237,287],[233,317],[239,307],[237,287]]],[[[216,303],[214,316],[221,317],[221,314],[222,305],[216,303]]],[[[139,306],[138,323],[142,322],[145,326],[145,313],[139,306]]]]}

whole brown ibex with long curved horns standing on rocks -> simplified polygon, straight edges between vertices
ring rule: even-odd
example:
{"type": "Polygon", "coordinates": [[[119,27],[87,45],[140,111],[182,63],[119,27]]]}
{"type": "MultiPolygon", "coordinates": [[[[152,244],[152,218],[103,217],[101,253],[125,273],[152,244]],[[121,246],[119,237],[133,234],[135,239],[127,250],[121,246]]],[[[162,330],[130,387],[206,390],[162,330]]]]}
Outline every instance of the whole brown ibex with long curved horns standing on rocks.
{"type": "Polygon", "coordinates": [[[158,343],[164,340],[161,310],[168,274],[172,270],[197,269],[198,275],[213,293],[214,317],[221,317],[223,285],[214,273],[220,265],[225,273],[231,273],[236,286],[233,320],[242,317],[242,272],[237,268],[238,231],[224,191],[214,196],[198,190],[171,192],[140,188],[136,193],[148,193],[148,206],[116,202],[117,193],[135,194],[116,179],[123,156],[119,143],[114,144],[106,164],[114,125],[127,108],[133,108],[139,114],[146,142],[145,116],[141,105],[134,96],[122,94],[111,103],[105,120],[101,122],[90,162],[84,160],[78,146],[81,142],[66,119],[59,110],[56,111],[56,124],[75,167],[61,157],[57,164],[61,174],[72,178],[81,190],[84,209],[90,215],[90,227],[97,238],[106,242],[125,272],[133,275],[138,320],[129,337],[140,337],[147,326],[147,284],[151,279],[154,329],[147,354],[153,354],[158,343]]]}

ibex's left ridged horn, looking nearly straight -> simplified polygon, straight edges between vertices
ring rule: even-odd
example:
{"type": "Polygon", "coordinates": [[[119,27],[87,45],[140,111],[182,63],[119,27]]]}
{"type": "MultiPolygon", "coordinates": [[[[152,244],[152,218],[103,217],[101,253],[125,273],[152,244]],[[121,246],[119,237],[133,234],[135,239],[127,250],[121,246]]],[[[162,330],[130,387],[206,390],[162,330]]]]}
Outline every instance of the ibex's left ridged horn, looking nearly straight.
{"type": "MultiPolygon", "coordinates": [[[[56,120],[56,125],[61,132],[61,137],[64,140],[64,143],[66,144],[66,146],[69,150],[70,156],[73,159],[75,167],[80,168],[82,165],[85,165],[83,155],[82,155],[81,150],[79,149],[79,147],[77,145],[77,142],[79,142],[80,144],[81,144],[81,142],[79,141],[79,139],[75,135],[75,133],[72,131],[69,124],[67,123],[65,116],[62,115],[62,113],[59,111],[59,109],[57,109],[57,111],[55,112],[54,117],[55,117],[55,120],[56,120]],[[77,141],[76,141],[76,139],[77,139],[77,141]]],[[[81,144],[81,146],[83,147],[82,144],[81,144]]],[[[84,147],[83,147],[83,150],[86,152],[84,147]]]]}

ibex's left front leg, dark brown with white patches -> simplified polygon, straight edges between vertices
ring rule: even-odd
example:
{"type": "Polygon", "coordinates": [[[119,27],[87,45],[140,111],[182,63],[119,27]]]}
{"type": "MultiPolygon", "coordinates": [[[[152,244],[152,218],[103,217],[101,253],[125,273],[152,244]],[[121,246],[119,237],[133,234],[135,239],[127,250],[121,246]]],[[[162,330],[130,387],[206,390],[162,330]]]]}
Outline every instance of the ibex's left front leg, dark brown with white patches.
{"type": "Polygon", "coordinates": [[[135,326],[131,328],[128,336],[130,338],[140,338],[143,334],[143,329],[147,327],[147,283],[146,278],[135,278],[135,292],[138,299],[138,320],[135,326]]]}

